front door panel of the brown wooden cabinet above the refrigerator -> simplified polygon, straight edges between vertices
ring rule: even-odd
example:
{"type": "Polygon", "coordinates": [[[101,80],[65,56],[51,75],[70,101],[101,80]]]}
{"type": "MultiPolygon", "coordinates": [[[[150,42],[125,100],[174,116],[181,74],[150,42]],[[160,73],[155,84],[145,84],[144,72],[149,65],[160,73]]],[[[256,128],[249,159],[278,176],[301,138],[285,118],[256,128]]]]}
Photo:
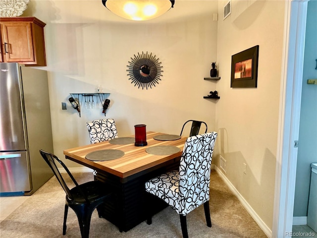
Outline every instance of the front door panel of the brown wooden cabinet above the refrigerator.
{"type": "Polygon", "coordinates": [[[2,34],[6,62],[32,62],[34,51],[30,22],[3,22],[2,34]]]}

